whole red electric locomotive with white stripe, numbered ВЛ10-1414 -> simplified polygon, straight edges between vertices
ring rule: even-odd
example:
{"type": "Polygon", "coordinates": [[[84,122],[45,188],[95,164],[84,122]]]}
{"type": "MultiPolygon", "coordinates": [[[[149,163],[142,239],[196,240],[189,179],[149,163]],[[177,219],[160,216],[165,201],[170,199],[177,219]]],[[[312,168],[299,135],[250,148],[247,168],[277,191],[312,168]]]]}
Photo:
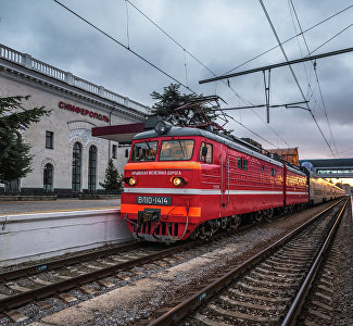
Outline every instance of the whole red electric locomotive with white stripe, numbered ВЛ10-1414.
{"type": "MultiPolygon", "coordinates": [[[[318,184],[311,186],[307,179],[298,167],[238,138],[160,121],[133,139],[121,214],[136,238],[203,238],[242,220],[316,203],[310,193],[317,192],[318,184]]],[[[341,196],[336,188],[327,200],[341,196]]]]}

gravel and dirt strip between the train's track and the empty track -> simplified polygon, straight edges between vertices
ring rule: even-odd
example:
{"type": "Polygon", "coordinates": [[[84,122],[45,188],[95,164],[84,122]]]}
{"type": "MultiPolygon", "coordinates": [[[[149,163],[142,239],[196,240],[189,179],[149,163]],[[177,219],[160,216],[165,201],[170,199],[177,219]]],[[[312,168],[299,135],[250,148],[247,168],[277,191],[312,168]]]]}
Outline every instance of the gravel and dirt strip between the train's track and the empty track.
{"type": "MultiPolygon", "coordinates": [[[[77,303],[58,312],[53,309],[45,317],[39,314],[38,318],[31,319],[36,321],[31,325],[136,325],[137,319],[147,318],[161,308],[173,306],[174,301],[205,284],[217,272],[230,264],[241,264],[330,204],[282,216],[234,237],[207,243],[203,249],[178,254],[185,259],[175,260],[175,264],[166,268],[151,269],[147,277],[131,277],[121,287],[106,289],[105,293],[96,298],[76,294],[79,299],[77,303]]],[[[58,310],[62,309],[62,304],[58,305],[58,310]]],[[[27,315],[23,309],[22,312],[27,315]]],[[[0,325],[7,325],[2,322],[4,318],[0,318],[0,325]]]]}

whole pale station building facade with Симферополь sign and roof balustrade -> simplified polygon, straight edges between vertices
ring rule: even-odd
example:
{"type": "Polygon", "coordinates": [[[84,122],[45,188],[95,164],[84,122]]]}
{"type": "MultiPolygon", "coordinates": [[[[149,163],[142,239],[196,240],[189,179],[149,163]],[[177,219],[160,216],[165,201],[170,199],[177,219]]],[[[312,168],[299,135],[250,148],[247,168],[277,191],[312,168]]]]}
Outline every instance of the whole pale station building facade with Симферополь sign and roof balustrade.
{"type": "MultiPolygon", "coordinates": [[[[141,123],[148,106],[0,45],[0,97],[30,96],[22,110],[45,106],[24,130],[33,171],[12,184],[23,192],[72,196],[101,189],[110,159],[123,172],[125,148],[92,136],[93,127],[141,123]]],[[[2,187],[3,188],[3,187],[2,187]]]]}

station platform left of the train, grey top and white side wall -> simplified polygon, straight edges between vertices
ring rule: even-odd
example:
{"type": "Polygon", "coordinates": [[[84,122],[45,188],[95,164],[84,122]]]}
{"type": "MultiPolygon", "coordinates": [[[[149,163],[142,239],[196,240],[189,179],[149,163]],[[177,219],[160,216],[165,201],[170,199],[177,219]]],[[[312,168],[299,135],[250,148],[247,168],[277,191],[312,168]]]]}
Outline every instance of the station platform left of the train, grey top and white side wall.
{"type": "Polygon", "coordinates": [[[0,202],[0,267],[133,240],[119,200],[0,202]]]}

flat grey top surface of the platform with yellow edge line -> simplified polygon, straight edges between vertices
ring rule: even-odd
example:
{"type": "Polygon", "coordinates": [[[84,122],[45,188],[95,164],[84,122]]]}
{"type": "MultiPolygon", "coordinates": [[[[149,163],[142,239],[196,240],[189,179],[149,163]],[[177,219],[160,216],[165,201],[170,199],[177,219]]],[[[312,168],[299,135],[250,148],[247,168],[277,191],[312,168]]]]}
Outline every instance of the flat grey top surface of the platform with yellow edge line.
{"type": "Polygon", "coordinates": [[[77,211],[91,209],[119,209],[119,199],[79,200],[59,199],[53,201],[0,201],[0,215],[77,211]]]}

